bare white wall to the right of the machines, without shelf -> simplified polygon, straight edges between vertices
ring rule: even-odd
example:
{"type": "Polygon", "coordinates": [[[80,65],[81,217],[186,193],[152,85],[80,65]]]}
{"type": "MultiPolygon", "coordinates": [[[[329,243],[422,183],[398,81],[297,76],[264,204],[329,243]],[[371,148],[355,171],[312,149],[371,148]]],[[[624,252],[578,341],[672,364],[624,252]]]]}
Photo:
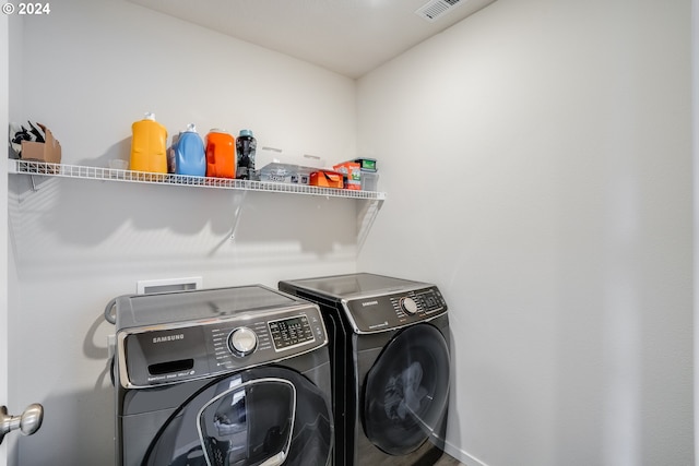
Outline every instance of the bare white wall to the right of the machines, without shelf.
{"type": "Polygon", "coordinates": [[[358,265],[443,290],[470,465],[694,464],[689,19],[500,0],[358,82],[358,265]]]}

